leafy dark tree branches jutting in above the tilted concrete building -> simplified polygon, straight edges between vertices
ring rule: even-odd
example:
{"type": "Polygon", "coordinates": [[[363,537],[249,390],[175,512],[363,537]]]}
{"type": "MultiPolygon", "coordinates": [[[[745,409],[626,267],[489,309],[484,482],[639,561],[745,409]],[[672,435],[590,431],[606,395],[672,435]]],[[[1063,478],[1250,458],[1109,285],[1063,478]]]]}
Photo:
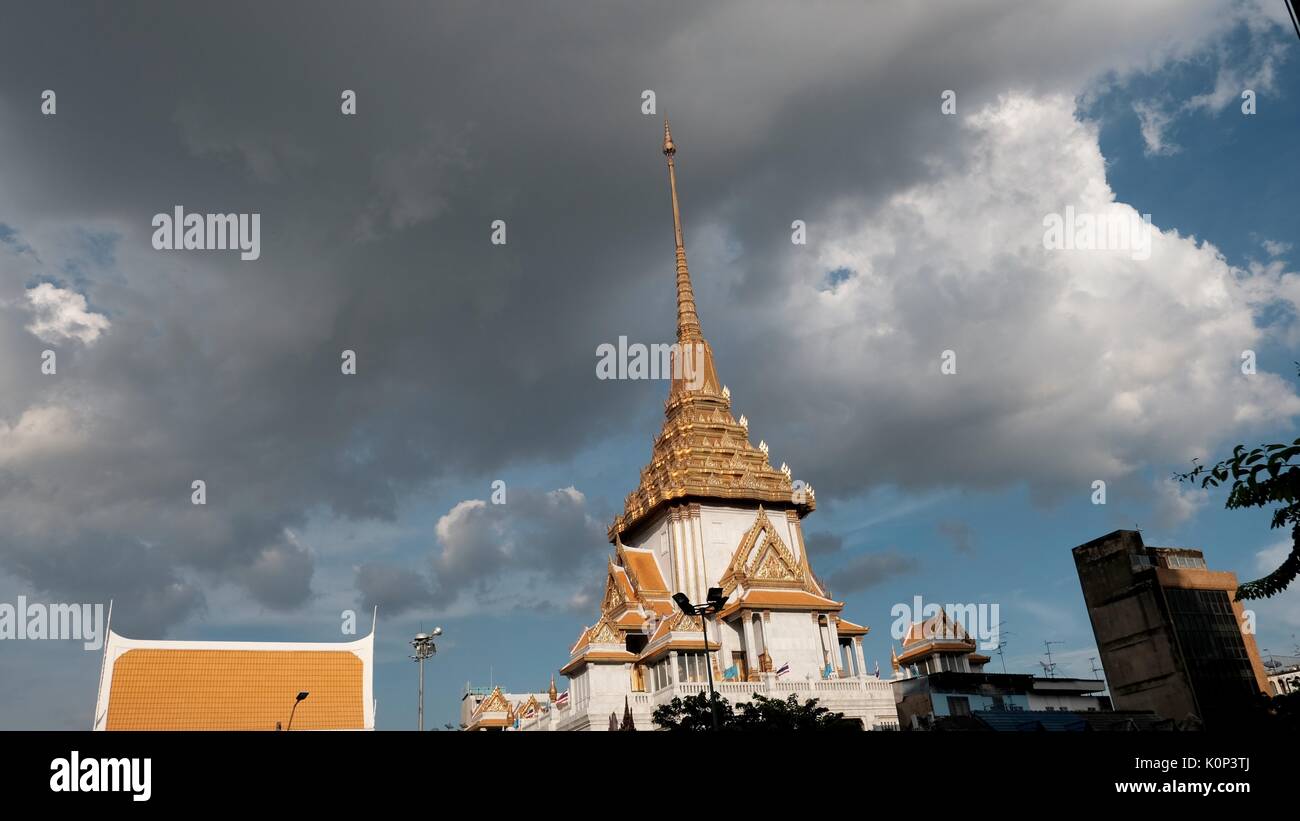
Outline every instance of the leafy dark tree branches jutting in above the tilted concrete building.
{"type": "MultiPolygon", "coordinates": [[[[1268,599],[1287,588],[1300,574],[1300,439],[1291,444],[1262,444],[1247,451],[1244,444],[1232,448],[1232,457],[1216,465],[1197,464],[1193,470],[1175,474],[1179,482],[1196,482],[1201,487],[1218,487],[1232,479],[1223,504],[1236,508],[1264,508],[1280,504],[1273,511],[1271,527],[1291,527],[1291,555],[1264,578],[1245,582],[1236,588],[1238,600],[1268,599]]],[[[1195,464],[1196,460],[1192,460],[1195,464]]]]}

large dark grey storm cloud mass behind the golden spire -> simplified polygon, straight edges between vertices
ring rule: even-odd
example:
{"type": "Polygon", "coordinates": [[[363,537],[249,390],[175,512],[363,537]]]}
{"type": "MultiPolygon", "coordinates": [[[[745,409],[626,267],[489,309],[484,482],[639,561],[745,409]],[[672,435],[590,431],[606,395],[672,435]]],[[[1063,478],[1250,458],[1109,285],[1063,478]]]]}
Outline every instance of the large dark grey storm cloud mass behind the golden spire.
{"type": "MultiPolygon", "coordinates": [[[[315,517],[394,520],[415,488],[568,464],[654,430],[662,385],[594,378],[598,344],[667,340],[672,329],[660,126],[640,112],[646,88],[676,123],[705,330],[776,461],[789,455],[823,498],[875,481],[1015,475],[975,457],[936,465],[967,442],[1026,451],[988,431],[1028,394],[940,410],[915,386],[862,369],[864,357],[915,364],[933,346],[904,334],[905,349],[872,349],[818,325],[815,310],[792,313],[790,221],[809,222],[815,251],[909,186],[959,178],[971,138],[937,118],[944,88],[959,86],[962,110],[1011,87],[1072,95],[1098,71],[1122,75],[1202,42],[1219,9],[1062,6],[1026,38],[1013,0],[942,13],[670,5],[6,9],[0,570],[114,596],[156,631],[200,612],[217,585],[289,609],[320,592],[317,559],[286,537],[315,517]],[[39,113],[44,88],[58,94],[55,117],[39,113]],[[344,88],[358,92],[355,118],[339,113],[344,88]],[[260,213],[261,259],[153,251],[150,221],[177,204],[260,213]],[[507,222],[507,246],[489,243],[494,220],[507,222]],[[65,326],[81,336],[29,331],[26,294],[40,283],[84,296],[108,327],[95,339],[84,318],[65,326]],[[38,368],[51,346],[57,377],[38,368]],[[344,349],[356,375],[339,373],[344,349]],[[870,452],[875,469],[846,452],[870,452]],[[202,508],[190,504],[199,478],[202,508]]],[[[900,259],[922,256],[900,246],[900,259]]],[[[840,268],[815,270],[809,290],[822,294],[840,268]]],[[[833,295],[880,275],[853,270],[833,295]]],[[[932,265],[890,321],[948,326],[961,308],[978,327],[1019,333],[975,299],[1020,292],[1004,284],[945,291],[932,265]],[[945,292],[957,296],[936,308],[945,292]]],[[[1050,296],[1027,288],[1022,305],[1050,296]]],[[[991,342],[991,361],[1013,342],[991,342]]],[[[630,490],[625,475],[601,490],[630,490]]],[[[462,511],[434,551],[433,599],[514,591],[514,604],[554,604],[566,574],[590,585],[607,512],[567,504],[523,495],[462,511]],[[510,582],[514,572],[546,590],[510,582]]],[[[395,605],[419,594],[382,574],[355,581],[395,605]]]]}

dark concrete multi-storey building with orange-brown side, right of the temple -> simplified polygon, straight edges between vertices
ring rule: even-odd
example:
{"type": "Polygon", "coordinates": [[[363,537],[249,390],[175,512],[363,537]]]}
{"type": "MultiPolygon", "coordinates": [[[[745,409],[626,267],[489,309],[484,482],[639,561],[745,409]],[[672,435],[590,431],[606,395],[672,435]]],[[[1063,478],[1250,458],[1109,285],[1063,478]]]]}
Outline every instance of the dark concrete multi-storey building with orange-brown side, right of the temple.
{"type": "Polygon", "coordinates": [[[1236,575],[1209,570],[1201,551],[1117,530],[1074,548],[1074,561],[1117,709],[1213,729],[1270,692],[1236,575]]]}

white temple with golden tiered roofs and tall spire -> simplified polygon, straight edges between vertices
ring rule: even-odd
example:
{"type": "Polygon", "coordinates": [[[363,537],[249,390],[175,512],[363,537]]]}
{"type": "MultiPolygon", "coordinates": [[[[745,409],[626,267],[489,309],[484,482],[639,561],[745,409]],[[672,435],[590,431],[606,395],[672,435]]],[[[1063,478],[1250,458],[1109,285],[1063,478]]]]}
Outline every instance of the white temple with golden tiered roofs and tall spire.
{"type": "Polygon", "coordinates": [[[667,120],[663,153],[677,292],[663,430],[608,529],[614,552],[599,617],[559,670],[568,692],[524,711],[495,692],[485,700],[495,709],[474,711],[472,724],[488,726],[490,716],[521,730],[606,730],[630,717],[650,729],[656,705],[707,687],[711,664],[732,703],[755,692],[816,698],[864,729],[896,729],[890,686],[863,660],[868,627],[842,616],[844,603],[809,562],[802,520],[816,508],[812,487],[792,481],[784,464],[772,468],[766,442],[750,443],[749,422],[732,414],[731,391],[718,378],[686,265],[667,120]],[[710,587],[723,590],[725,605],[707,625],[673,604],[676,592],[703,601],[710,587]]]}

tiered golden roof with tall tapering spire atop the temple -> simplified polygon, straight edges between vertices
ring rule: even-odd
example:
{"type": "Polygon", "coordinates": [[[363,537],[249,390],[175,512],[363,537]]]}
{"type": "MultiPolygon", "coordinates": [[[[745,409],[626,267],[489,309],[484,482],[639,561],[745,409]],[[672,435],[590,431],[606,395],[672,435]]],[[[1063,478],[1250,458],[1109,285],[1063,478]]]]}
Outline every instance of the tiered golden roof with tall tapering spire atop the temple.
{"type": "Polygon", "coordinates": [[[696,310],[677,205],[677,145],[667,118],[663,153],[668,158],[677,246],[677,349],[663,430],[654,440],[650,464],[641,470],[640,485],[628,494],[623,513],[610,526],[611,540],[645,521],[662,504],[688,496],[794,503],[801,514],[815,507],[810,491],[796,496],[789,475],[772,468],[767,453],[750,444],[748,426],[732,417],[731,392],[718,381],[714,353],[696,310]]]}

